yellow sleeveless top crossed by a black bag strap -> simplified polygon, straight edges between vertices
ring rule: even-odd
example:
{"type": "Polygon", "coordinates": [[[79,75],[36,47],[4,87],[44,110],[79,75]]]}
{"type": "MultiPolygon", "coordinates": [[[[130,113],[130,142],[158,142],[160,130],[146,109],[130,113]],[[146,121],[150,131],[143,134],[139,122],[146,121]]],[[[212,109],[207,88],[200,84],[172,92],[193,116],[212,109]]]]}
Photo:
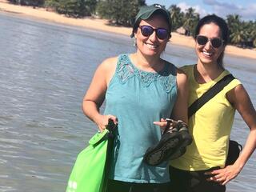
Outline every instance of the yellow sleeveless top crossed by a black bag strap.
{"type": "MultiPolygon", "coordinates": [[[[216,82],[230,74],[228,70],[224,70],[213,81],[198,84],[194,78],[194,65],[183,66],[182,70],[189,79],[189,106],[216,82]]],[[[226,98],[226,93],[239,84],[241,82],[234,79],[190,117],[189,130],[193,135],[193,142],[187,146],[186,153],[182,157],[170,161],[171,166],[192,171],[225,166],[235,112],[234,107],[226,98]]]]}

